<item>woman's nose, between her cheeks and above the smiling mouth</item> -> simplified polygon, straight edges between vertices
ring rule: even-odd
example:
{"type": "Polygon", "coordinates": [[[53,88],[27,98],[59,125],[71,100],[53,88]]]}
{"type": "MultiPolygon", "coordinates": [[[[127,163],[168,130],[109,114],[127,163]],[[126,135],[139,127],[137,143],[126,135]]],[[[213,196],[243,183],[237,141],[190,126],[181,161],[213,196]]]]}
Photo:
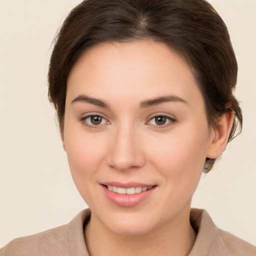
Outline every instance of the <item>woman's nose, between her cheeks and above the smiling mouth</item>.
{"type": "Polygon", "coordinates": [[[131,125],[120,125],[109,140],[108,165],[123,171],[143,166],[145,157],[141,136],[131,125]]]}

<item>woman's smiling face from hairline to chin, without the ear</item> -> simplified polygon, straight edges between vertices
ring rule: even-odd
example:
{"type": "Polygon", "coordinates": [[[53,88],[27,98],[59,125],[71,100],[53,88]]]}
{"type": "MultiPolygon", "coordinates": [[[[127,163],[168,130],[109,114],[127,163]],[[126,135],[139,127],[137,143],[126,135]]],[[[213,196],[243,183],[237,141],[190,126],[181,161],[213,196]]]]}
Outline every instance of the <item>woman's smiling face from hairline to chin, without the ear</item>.
{"type": "Polygon", "coordinates": [[[162,43],[100,44],[69,74],[64,149],[92,217],[113,232],[187,217],[211,133],[189,67],[162,43]]]}

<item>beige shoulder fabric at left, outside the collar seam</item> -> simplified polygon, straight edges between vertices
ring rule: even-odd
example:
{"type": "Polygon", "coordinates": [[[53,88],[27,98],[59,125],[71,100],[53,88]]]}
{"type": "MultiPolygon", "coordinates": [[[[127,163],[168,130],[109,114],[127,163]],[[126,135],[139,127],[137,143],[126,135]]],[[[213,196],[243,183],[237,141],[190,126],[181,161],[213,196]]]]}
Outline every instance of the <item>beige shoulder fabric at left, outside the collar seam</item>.
{"type": "Polygon", "coordinates": [[[69,255],[67,225],[55,227],[34,235],[19,237],[0,249],[0,256],[69,255]]]}

